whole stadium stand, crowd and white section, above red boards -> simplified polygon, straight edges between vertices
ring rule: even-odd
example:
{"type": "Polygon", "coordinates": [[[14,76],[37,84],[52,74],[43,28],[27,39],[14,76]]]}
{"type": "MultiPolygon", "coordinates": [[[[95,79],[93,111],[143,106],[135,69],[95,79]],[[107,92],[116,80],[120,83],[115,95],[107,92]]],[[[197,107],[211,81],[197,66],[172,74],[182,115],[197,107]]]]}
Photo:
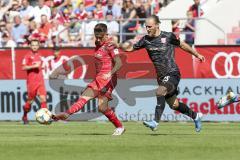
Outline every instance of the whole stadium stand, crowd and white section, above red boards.
{"type": "Polygon", "coordinates": [[[124,8],[128,8],[125,3],[127,1],[129,0],[92,0],[90,3],[84,0],[3,0],[0,4],[0,47],[26,47],[31,38],[39,38],[45,47],[52,47],[56,43],[71,47],[93,46],[92,32],[86,30],[86,26],[97,22],[106,23],[109,28],[118,26],[118,29],[110,33],[117,41],[134,39],[132,35],[144,33],[142,18],[151,14],[157,14],[162,19],[162,30],[173,31],[172,21],[178,21],[179,33],[176,34],[181,39],[185,39],[186,34],[193,34],[197,45],[236,44],[240,38],[238,1],[229,3],[227,0],[195,0],[195,3],[200,2],[201,16],[196,17],[198,10],[194,0],[133,0],[137,12],[134,21],[137,23],[134,22],[136,25],[125,29],[122,13],[124,8]],[[234,14],[227,12],[228,8],[234,14]],[[191,9],[193,17],[201,18],[194,21],[195,30],[186,29],[186,24],[190,22],[187,11],[191,9]],[[18,16],[21,22],[15,21],[18,16]],[[226,22],[222,23],[223,19],[226,22]],[[20,23],[20,27],[17,23],[20,23]],[[27,33],[23,31],[24,26],[27,33]],[[24,34],[15,35],[18,30],[22,30],[24,34]],[[206,35],[206,31],[211,35],[206,35]],[[126,36],[129,34],[130,36],[126,36]],[[16,36],[20,38],[16,40],[16,36]]]}

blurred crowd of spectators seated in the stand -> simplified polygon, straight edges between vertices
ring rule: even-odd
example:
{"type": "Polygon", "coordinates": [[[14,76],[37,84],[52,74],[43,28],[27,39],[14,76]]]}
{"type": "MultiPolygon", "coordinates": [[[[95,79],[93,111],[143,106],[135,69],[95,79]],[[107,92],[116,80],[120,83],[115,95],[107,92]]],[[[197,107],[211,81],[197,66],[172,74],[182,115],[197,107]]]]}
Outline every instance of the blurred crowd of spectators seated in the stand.
{"type": "MultiPolygon", "coordinates": [[[[39,39],[43,47],[94,46],[93,27],[101,22],[108,26],[116,41],[138,39],[145,33],[144,18],[158,14],[172,0],[0,0],[0,47],[27,47],[39,39]],[[137,32],[136,34],[132,34],[137,32]],[[121,33],[121,34],[119,34],[121,33]],[[130,33],[130,34],[129,34],[130,33]]],[[[201,10],[194,0],[182,29],[194,43],[194,20],[201,10]]],[[[172,21],[178,36],[179,21],[172,21]]]]}

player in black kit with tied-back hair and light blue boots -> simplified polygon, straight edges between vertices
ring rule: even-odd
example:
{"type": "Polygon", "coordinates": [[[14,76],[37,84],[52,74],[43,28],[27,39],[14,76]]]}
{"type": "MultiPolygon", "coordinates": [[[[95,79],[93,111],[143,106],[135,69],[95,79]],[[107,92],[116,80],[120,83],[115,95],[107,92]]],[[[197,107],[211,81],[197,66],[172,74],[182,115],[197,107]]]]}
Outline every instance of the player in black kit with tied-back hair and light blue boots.
{"type": "Polygon", "coordinates": [[[159,86],[156,91],[157,106],[155,109],[155,119],[152,121],[144,121],[143,124],[152,130],[156,130],[165,108],[165,102],[167,102],[173,110],[179,111],[192,118],[195,123],[196,132],[200,132],[202,128],[202,113],[194,112],[186,104],[179,102],[177,99],[177,87],[181,74],[175,63],[174,49],[178,46],[184,51],[194,55],[201,62],[203,62],[205,58],[194,51],[188,44],[177,39],[172,32],[161,31],[159,24],[160,21],[157,16],[152,15],[148,17],[145,23],[148,34],[134,45],[127,42],[121,46],[124,51],[128,52],[145,48],[157,73],[159,86]]]}

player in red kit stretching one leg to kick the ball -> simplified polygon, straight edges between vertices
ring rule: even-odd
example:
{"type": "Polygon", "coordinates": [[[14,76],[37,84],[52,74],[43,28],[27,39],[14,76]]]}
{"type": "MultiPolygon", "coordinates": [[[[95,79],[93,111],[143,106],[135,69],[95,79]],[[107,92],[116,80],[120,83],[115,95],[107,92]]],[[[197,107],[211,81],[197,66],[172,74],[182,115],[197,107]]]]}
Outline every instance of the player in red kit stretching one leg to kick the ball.
{"type": "Polygon", "coordinates": [[[98,98],[98,110],[111,121],[116,129],[113,135],[122,135],[125,131],[113,110],[108,106],[112,100],[112,91],[117,85],[116,72],[122,66],[119,51],[108,37],[107,25],[99,23],[94,27],[96,78],[86,87],[79,100],[66,112],[53,116],[54,120],[66,120],[71,114],[78,112],[91,99],[98,98]]]}

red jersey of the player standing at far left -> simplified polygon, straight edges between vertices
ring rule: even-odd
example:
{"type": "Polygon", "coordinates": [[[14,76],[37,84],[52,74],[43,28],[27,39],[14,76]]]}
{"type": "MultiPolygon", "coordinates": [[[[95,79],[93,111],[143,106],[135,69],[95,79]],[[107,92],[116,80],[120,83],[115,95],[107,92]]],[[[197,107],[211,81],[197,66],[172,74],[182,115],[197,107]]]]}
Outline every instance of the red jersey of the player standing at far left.
{"type": "Polygon", "coordinates": [[[42,60],[38,53],[28,53],[25,55],[22,65],[34,65],[38,62],[41,62],[39,68],[27,70],[27,84],[40,84],[43,83],[43,73],[42,73],[42,60]]]}

